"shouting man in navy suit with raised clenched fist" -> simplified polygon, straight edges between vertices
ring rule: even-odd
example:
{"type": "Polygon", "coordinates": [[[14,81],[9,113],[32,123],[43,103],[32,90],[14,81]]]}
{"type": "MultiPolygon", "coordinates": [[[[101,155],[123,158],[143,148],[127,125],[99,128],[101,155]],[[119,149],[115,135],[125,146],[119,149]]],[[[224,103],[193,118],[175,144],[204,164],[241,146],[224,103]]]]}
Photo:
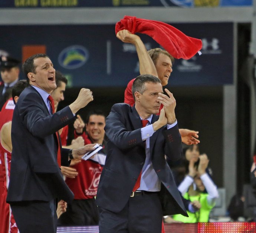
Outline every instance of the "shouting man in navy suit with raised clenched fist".
{"type": "Polygon", "coordinates": [[[54,113],[49,93],[56,88],[55,69],[45,54],[35,54],[23,64],[29,87],[20,94],[12,119],[12,160],[7,202],[20,233],[56,233],[56,202],[71,202],[73,193],[63,180],[60,165],[81,159],[93,145],[62,149],[58,130],[93,100],[82,88],[77,99],[54,113]]]}

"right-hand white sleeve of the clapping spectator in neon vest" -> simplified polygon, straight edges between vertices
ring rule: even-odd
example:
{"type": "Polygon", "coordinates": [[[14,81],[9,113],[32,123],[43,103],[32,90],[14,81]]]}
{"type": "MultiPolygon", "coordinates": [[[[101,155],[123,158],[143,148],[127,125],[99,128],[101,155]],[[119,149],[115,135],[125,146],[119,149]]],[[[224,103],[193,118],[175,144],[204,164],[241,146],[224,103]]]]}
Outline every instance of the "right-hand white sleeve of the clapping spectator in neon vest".
{"type": "Polygon", "coordinates": [[[204,173],[200,176],[204,187],[208,193],[207,202],[209,205],[213,205],[215,200],[219,197],[219,192],[217,190],[217,186],[213,183],[213,180],[207,173],[204,173]]]}

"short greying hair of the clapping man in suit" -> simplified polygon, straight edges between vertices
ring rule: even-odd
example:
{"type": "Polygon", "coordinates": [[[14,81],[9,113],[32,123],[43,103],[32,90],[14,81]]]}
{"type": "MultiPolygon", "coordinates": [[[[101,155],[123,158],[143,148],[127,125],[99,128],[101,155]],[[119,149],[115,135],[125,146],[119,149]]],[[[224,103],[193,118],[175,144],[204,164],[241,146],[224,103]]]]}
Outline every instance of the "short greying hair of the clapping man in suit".
{"type": "Polygon", "coordinates": [[[154,75],[151,74],[142,74],[139,75],[137,78],[135,78],[133,84],[132,84],[132,96],[135,100],[134,93],[140,92],[140,94],[143,94],[143,92],[146,90],[145,82],[152,82],[152,83],[161,83],[161,80],[154,75]]]}

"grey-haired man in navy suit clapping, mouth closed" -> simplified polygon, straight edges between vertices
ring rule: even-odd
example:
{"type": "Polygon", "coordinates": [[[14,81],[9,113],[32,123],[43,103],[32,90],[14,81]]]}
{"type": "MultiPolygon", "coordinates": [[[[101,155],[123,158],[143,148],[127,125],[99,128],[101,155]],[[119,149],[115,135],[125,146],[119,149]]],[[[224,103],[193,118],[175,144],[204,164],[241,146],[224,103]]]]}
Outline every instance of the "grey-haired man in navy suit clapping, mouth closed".
{"type": "Polygon", "coordinates": [[[163,215],[187,216],[165,161],[182,153],[176,102],[165,91],[168,96],[157,77],[140,75],[132,85],[135,106],[115,104],[106,118],[107,155],[96,197],[100,233],[160,233],[163,215]]]}

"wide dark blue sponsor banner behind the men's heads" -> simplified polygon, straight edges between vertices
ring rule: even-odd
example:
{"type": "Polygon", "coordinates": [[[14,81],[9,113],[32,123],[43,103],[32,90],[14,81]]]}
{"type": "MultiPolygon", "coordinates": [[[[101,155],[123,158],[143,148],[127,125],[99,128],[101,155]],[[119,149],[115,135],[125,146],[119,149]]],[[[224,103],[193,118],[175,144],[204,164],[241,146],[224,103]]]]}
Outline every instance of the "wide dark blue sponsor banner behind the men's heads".
{"type": "MultiPolygon", "coordinates": [[[[170,85],[233,83],[232,23],[172,26],[200,38],[203,48],[200,56],[175,60],[170,85]]],[[[46,53],[55,69],[76,87],[125,87],[139,75],[136,49],[116,38],[115,25],[0,26],[0,31],[4,35],[0,37],[0,50],[23,61],[28,54],[46,53]]],[[[148,50],[160,46],[151,37],[139,35],[148,50]]]]}

